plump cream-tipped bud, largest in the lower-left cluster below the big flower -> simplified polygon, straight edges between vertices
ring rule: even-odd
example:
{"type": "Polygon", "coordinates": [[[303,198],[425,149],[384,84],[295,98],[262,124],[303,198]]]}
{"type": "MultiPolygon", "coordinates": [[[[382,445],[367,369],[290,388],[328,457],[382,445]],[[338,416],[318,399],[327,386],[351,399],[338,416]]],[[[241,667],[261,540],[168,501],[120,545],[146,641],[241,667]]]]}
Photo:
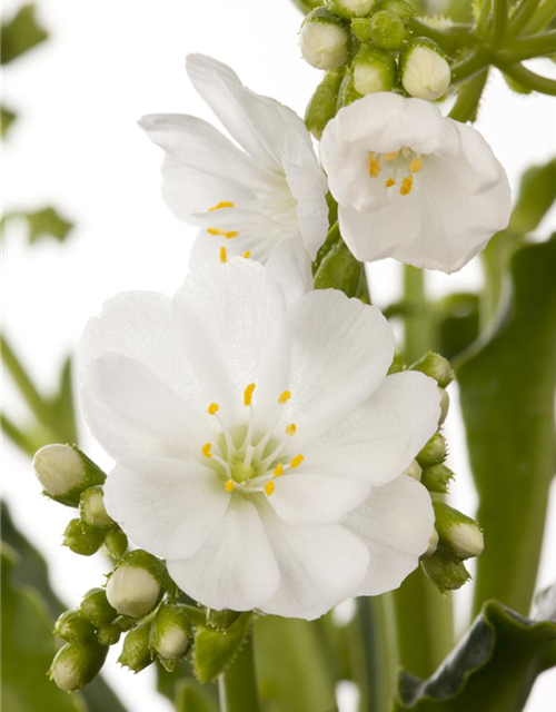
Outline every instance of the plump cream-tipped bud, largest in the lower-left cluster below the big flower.
{"type": "Polygon", "coordinates": [[[163,564],[141,550],[120,560],[107,583],[110,604],[122,615],[142,617],[160,600],[168,574],[163,564]]]}

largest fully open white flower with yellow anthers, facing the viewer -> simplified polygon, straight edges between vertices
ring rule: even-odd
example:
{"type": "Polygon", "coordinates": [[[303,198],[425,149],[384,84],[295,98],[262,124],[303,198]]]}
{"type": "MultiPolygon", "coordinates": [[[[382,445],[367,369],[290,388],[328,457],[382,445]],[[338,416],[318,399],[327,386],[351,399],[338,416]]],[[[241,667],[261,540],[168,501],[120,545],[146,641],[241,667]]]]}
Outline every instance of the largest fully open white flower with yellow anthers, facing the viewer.
{"type": "Polygon", "coordinates": [[[386,377],[393,354],[377,308],[334,289],[287,306],[252,260],[199,267],[173,300],[116,296],[79,348],[86,418],[117,461],[107,511],[215,610],[314,619],[397,587],[434,526],[401,473],[439,395],[386,377]]]}

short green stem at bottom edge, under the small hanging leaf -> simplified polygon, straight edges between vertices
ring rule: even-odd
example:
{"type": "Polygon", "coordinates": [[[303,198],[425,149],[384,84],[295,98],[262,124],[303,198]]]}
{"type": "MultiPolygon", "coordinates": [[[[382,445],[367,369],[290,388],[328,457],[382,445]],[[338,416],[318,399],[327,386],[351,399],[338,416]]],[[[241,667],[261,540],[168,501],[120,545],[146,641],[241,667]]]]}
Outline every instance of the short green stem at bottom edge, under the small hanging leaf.
{"type": "Polygon", "coordinates": [[[252,634],[229,670],[218,679],[220,712],[260,712],[252,634]]]}

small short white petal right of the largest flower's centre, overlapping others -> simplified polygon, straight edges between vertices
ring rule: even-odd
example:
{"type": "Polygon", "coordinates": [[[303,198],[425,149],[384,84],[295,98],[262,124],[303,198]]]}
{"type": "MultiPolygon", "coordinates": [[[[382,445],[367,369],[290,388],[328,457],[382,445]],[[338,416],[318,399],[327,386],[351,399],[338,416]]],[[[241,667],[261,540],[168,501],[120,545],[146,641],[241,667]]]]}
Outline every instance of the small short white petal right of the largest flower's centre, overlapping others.
{"type": "Polygon", "coordinates": [[[317,474],[284,475],[275,481],[268,503],[284,522],[337,524],[367,497],[361,479],[317,474]]]}

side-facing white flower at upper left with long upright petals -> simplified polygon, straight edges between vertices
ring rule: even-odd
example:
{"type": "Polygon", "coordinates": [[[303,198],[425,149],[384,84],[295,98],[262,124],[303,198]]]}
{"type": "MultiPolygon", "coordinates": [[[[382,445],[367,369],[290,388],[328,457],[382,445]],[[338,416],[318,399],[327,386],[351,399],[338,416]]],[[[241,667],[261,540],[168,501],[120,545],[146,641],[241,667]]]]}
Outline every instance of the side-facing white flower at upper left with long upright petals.
{"type": "Polygon", "coordinates": [[[246,253],[265,263],[282,240],[314,259],[328,229],[327,182],[304,121],[210,57],[189,55],[187,72],[236,142],[192,116],[152,115],[140,125],[166,151],[166,201],[202,226],[193,264],[246,253]]]}

